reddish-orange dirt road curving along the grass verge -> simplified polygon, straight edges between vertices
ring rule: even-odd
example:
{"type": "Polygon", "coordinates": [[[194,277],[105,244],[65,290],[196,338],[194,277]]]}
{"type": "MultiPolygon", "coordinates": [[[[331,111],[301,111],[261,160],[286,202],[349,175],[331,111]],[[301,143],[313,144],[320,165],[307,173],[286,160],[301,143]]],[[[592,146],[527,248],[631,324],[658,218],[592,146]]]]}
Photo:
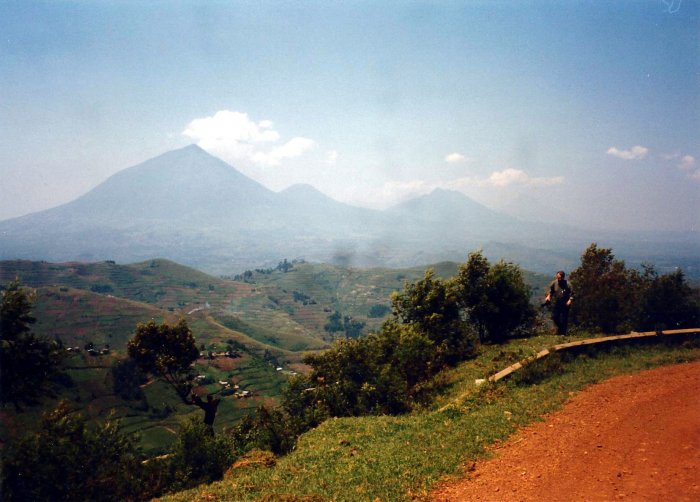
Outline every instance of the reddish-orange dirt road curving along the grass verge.
{"type": "Polygon", "coordinates": [[[593,385],[493,455],[432,499],[700,500],[700,362],[593,385]]]}

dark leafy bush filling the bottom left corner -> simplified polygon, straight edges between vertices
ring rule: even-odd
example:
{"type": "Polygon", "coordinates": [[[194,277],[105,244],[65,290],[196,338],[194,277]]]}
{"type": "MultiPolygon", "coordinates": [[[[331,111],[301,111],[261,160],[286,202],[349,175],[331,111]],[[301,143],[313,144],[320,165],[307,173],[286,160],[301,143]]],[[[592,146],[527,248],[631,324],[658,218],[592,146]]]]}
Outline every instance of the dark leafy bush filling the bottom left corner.
{"type": "Polygon", "coordinates": [[[65,401],[44,415],[36,432],[7,448],[1,498],[8,502],[116,502],[157,494],[158,487],[145,479],[136,439],[122,434],[113,421],[88,425],[65,401]]]}

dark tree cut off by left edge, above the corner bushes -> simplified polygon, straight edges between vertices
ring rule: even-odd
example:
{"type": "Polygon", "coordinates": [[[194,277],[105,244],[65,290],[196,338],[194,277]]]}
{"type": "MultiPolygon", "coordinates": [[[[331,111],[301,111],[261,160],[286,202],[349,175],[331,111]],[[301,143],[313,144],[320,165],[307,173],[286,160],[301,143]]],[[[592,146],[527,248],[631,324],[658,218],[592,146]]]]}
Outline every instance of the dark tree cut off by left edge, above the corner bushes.
{"type": "Polygon", "coordinates": [[[53,340],[31,332],[35,296],[11,282],[0,305],[0,400],[16,408],[33,404],[60,374],[65,354],[53,340]]]}

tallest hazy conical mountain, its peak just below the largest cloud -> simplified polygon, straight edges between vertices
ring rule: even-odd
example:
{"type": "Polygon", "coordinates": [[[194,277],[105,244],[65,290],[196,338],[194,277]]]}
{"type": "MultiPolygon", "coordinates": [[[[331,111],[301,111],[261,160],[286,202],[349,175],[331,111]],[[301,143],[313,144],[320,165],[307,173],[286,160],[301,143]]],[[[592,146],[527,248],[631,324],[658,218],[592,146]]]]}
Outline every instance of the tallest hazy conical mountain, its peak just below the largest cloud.
{"type": "Polygon", "coordinates": [[[275,193],[196,145],[174,150],[111,176],[54,212],[60,218],[116,225],[205,220],[229,224],[269,216],[275,193]],[[254,209],[253,209],[254,208],[254,209]]]}

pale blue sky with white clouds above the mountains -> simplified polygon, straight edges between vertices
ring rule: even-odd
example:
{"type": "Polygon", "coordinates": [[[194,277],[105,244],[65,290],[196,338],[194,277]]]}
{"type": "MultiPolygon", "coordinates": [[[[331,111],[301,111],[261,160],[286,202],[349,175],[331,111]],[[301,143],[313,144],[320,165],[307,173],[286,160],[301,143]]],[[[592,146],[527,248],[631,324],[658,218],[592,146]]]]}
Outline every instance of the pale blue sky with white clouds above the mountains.
{"type": "Polygon", "coordinates": [[[700,231],[700,2],[0,0],[0,219],[193,143],[363,207],[700,231]]]}

